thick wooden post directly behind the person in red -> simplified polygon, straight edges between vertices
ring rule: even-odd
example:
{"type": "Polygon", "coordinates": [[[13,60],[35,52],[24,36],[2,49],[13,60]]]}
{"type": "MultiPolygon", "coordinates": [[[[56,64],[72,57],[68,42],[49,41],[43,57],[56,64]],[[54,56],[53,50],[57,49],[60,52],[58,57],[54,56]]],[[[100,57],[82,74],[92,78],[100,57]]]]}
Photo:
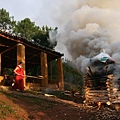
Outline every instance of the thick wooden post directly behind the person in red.
{"type": "MultiPolygon", "coordinates": [[[[21,43],[17,44],[17,64],[19,64],[19,62],[23,62],[24,74],[26,74],[26,71],[25,71],[25,46],[21,43]]],[[[24,86],[26,86],[26,78],[24,78],[24,86]]]]}

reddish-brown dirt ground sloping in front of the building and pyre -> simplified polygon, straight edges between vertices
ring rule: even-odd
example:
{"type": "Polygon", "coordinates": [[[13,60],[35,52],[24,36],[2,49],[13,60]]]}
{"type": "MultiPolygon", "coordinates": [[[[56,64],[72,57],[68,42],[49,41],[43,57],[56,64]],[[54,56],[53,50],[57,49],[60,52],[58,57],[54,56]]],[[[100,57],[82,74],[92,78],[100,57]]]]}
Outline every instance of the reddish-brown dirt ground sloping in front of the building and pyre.
{"type": "Polygon", "coordinates": [[[120,120],[120,110],[106,106],[84,106],[55,96],[1,91],[0,101],[14,108],[15,113],[0,120],[120,120]]]}

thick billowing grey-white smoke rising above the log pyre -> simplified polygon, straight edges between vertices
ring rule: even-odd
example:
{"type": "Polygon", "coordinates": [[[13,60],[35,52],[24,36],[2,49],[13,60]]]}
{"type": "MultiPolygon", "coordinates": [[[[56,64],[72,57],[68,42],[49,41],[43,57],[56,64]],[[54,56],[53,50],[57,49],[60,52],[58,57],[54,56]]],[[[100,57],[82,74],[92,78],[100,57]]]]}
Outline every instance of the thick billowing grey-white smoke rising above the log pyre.
{"type": "Polygon", "coordinates": [[[82,72],[101,49],[120,63],[120,0],[65,2],[57,19],[56,50],[69,57],[82,72]]]}

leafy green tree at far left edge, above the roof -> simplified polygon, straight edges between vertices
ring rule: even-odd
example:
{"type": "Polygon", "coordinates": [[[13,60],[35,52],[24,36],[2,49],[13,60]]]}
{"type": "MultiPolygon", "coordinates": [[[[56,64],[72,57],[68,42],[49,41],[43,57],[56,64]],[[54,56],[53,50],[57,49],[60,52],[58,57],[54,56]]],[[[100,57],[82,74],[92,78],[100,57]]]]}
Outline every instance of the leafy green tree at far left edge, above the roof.
{"type": "Polygon", "coordinates": [[[15,27],[16,21],[14,21],[14,17],[9,15],[5,9],[0,9],[0,29],[5,32],[12,33],[13,28],[15,27]]]}

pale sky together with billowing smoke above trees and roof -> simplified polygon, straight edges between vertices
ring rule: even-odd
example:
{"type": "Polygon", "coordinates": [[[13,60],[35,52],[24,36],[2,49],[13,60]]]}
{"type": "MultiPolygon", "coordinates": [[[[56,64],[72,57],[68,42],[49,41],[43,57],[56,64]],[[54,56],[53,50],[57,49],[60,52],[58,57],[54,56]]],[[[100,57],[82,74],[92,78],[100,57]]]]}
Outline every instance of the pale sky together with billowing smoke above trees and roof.
{"type": "Polygon", "coordinates": [[[85,68],[106,51],[120,63],[120,0],[0,0],[15,20],[30,18],[40,27],[58,27],[56,50],[85,68]]]}

